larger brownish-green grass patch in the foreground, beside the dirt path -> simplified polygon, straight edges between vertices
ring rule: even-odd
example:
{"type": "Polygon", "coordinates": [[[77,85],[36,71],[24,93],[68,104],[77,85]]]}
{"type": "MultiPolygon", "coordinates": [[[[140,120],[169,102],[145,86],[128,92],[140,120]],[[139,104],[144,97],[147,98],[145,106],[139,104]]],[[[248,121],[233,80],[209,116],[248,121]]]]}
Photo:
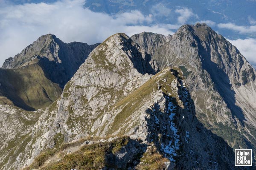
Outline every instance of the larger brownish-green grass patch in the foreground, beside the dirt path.
{"type": "Polygon", "coordinates": [[[128,136],[123,136],[114,139],[112,142],[85,145],[74,153],[64,155],[61,161],[42,167],[50,156],[54,156],[57,153],[54,150],[47,150],[41,153],[33,164],[24,170],[32,170],[39,167],[41,170],[71,170],[72,168],[78,170],[100,170],[104,167],[111,167],[113,165],[108,164],[106,157],[111,153],[117,153],[123,146],[128,144],[129,140],[128,136]]]}

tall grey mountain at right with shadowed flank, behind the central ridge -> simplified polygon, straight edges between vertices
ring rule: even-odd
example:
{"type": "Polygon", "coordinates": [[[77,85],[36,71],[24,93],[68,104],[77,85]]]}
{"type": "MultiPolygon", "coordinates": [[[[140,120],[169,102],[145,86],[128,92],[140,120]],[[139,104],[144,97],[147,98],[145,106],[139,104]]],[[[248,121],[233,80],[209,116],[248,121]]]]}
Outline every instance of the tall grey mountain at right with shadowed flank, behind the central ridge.
{"type": "Polygon", "coordinates": [[[204,126],[234,149],[256,147],[256,72],[235,46],[205,24],[184,25],[168,37],[143,32],[131,39],[160,70],[182,69],[204,126]]]}

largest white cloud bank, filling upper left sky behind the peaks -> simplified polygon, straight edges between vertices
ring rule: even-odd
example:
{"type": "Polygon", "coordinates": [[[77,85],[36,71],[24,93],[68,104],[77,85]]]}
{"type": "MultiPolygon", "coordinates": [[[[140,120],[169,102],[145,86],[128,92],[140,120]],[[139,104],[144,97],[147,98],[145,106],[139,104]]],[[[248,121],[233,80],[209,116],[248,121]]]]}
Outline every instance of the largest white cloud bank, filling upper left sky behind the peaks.
{"type": "MultiPolygon", "coordinates": [[[[3,0],[2,0],[3,1],[3,0]]],[[[2,2],[1,1],[1,2],[2,2]]],[[[4,3],[4,2],[3,2],[4,3]]],[[[0,6],[0,65],[44,34],[55,34],[64,42],[102,42],[117,32],[128,36],[150,31],[173,34],[172,25],[152,22],[139,11],[110,16],[82,8],[84,0],[61,0],[55,3],[26,3],[0,6]]]]}

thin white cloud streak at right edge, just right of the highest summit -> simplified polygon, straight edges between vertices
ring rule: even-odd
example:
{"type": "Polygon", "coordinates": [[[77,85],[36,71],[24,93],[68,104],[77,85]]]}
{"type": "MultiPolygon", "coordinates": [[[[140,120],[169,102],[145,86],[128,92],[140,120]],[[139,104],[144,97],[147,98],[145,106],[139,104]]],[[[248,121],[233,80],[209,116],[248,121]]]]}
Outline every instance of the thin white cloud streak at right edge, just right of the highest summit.
{"type": "Polygon", "coordinates": [[[220,23],[218,28],[226,28],[233,31],[238,31],[240,34],[256,33],[256,26],[237,26],[233,23],[220,23]]]}

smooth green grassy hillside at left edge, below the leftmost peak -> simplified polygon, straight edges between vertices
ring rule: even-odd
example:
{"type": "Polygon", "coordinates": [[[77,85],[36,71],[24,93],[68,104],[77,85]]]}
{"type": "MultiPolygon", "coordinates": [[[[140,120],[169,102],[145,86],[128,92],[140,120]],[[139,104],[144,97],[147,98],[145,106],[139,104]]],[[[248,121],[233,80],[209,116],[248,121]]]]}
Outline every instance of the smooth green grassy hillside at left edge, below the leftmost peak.
{"type": "Polygon", "coordinates": [[[26,110],[35,110],[49,106],[60,95],[59,85],[47,79],[37,63],[17,69],[0,69],[2,104],[8,102],[26,110]]]}

